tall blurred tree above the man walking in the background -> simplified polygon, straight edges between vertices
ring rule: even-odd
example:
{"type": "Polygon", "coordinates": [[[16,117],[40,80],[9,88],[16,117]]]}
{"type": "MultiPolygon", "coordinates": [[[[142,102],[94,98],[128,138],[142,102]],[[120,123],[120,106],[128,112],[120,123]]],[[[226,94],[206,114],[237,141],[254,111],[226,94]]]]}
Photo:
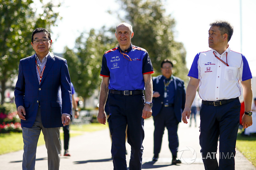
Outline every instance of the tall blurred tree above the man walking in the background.
{"type": "Polygon", "coordinates": [[[165,15],[161,0],[120,0],[126,11],[121,20],[133,26],[132,44],[148,51],[156,74],[160,74],[161,62],[169,58],[174,75],[187,79],[186,50],[182,43],[174,40],[175,20],[165,15]]]}

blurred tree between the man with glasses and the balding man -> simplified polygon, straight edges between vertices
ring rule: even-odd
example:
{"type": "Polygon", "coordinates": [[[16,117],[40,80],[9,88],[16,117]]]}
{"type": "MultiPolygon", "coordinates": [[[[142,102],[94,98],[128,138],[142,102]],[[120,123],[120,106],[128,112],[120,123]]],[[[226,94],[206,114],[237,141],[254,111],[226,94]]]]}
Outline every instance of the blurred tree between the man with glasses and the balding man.
{"type": "Polygon", "coordinates": [[[84,33],[76,39],[75,50],[65,48],[63,57],[68,62],[68,70],[76,92],[85,99],[92,96],[95,89],[99,89],[100,67],[103,54],[115,47],[117,41],[115,32],[102,27],[98,32],[91,29],[88,36],[84,33]],[[109,36],[108,36],[109,35],[109,36]]]}

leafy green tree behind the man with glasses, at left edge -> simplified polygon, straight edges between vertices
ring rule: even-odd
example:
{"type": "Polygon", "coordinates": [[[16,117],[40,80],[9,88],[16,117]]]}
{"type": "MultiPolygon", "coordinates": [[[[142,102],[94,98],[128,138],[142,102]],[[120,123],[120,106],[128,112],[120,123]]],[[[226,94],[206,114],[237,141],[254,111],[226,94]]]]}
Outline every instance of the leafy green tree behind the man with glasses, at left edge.
{"type": "Polygon", "coordinates": [[[30,44],[32,31],[44,27],[50,31],[50,26],[60,19],[54,12],[52,1],[33,7],[33,0],[0,0],[0,83],[1,97],[4,103],[6,83],[13,82],[18,74],[20,59],[32,55],[34,50],[30,44]],[[36,9],[42,10],[40,13],[36,9]]]}

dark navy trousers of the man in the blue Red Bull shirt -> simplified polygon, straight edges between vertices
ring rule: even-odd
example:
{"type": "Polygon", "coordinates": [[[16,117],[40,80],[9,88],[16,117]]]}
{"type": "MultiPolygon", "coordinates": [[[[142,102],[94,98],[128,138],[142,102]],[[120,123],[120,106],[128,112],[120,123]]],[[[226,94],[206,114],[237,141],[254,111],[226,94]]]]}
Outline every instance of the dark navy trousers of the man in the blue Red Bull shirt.
{"type": "Polygon", "coordinates": [[[108,106],[110,116],[108,125],[112,135],[111,153],[114,170],[127,170],[125,158],[125,130],[127,125],[127,142],[131,145],[130,170],[141,170],[142,142],[144,139],[144,94],[120,95],[110,93],[108,106]]]}

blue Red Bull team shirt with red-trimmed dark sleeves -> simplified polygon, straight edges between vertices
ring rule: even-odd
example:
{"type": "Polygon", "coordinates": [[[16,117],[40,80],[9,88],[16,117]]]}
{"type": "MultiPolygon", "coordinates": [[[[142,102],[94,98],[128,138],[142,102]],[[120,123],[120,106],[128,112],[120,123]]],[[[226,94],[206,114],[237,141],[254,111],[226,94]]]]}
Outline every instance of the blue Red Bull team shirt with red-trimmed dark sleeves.
{"type": "Polygon", "coordinates": [[[109,77],[108,89],[145,90],[143,74],[152,73],[154,69],[148,52],[132,44],[125,51],[118,45],[102,57],[100,76],[109,77]]]}

